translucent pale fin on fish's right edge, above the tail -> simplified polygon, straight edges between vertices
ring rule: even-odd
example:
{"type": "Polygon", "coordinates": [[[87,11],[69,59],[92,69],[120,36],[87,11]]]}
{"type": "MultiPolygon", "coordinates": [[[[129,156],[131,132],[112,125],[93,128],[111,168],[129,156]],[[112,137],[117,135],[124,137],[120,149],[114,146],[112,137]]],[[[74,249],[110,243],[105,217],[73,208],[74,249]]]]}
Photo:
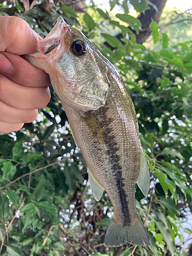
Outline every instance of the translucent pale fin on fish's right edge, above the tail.
{"type": "Polygon", "coordinates": [[[148,164],[143,151],[141,159],[141,169],[139,177],[137,179],[137,185],[141,189],[143,195],[146,197],[148,190],[150,189],[150,170],[148,169],[148,164]]]}

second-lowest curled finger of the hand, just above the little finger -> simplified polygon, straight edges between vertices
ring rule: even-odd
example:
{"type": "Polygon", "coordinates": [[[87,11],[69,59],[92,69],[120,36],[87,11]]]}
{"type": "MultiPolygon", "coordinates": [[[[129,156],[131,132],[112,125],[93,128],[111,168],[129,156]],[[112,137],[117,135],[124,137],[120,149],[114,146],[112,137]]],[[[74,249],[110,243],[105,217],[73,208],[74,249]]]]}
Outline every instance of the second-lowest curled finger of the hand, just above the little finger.
{"type": "Polygon", "coordinates": [[[0,120],[7,123],[30,123],[38,115],[38,110],[20,110],[0,101],[0,120]]]}

